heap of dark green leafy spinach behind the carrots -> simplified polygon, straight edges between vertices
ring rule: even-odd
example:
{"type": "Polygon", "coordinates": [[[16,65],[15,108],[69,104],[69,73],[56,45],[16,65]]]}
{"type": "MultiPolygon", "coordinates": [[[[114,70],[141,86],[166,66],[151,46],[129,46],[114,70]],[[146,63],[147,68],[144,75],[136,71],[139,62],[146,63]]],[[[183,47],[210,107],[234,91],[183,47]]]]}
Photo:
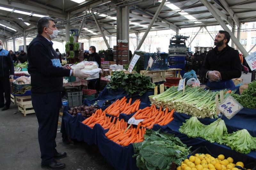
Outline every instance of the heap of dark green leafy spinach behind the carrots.
{"type": "Polygon", "coordinates": [[[154,83],[148,76],[139,73],[125,74],[124,71],[116,71],[111,76],[107,89],[123,88],[127,94],[139,94],[142,96],[145,92],[153,90],[154,83]]]}

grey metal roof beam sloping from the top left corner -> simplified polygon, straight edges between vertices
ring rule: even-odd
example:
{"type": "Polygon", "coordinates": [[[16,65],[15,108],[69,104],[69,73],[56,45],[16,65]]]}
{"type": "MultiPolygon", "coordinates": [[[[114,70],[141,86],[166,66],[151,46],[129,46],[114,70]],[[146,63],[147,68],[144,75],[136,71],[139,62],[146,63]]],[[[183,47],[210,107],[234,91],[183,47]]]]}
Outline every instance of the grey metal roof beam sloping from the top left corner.
{"type": "Polygon", "coordinates": [[[17,8],[17,9],[26,10],[26,11],[33,11],[33,12],[36,12],[39,14],[50,15],[50,16],[60,18],[63,20],[66,18],[66,15],[63,14],[62,11],[56,12],[57,9],[55,11],[51,11],[49,9],[43,9],[42,7],[36,7],[33,5],[29,5],[29,3],[24,4],[24,3],[14,2],[14,1],[11,1],[11,4],[9,4],[8,1],[2,1],[1,4],[5,5],[7,7],[11,7],[11,8],[17,8]]]}

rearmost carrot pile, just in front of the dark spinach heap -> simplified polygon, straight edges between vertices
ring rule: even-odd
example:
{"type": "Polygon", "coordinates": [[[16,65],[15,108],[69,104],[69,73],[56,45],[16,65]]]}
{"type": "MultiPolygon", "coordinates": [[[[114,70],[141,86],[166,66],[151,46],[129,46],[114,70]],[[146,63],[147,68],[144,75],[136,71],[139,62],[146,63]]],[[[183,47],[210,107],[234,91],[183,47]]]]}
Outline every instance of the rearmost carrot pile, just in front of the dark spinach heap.
{"type": "Polygon", "coordinates": [[[119,117],[120,113],[125,113],[127,115],[130,115],[131,113],[134,113],[139,110],[140,99],[135,100],[133,103],[132,103],[132,98],[130,98],[128,103],[126,101],[127,101],[126,97],[123,97],[121,100],[117,99],[114,103],[108,106],[104,110],[104,112],[108,113],[109,115],[119,117]]]}

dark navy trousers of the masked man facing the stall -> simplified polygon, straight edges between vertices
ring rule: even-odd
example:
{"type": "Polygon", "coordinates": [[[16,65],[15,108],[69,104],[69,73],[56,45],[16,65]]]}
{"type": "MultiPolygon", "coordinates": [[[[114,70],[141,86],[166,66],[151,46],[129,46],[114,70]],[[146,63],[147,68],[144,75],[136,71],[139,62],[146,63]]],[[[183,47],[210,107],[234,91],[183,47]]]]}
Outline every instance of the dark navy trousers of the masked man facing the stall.
{"type": "Polygon", "coordinates": [[[61,92],[31,95],[32,105],[36,112],[38,128],[38,141],[41,151],[42,164],[49,164],[53,155],[57,153],[56,134],[61,105],[61,92]]]}

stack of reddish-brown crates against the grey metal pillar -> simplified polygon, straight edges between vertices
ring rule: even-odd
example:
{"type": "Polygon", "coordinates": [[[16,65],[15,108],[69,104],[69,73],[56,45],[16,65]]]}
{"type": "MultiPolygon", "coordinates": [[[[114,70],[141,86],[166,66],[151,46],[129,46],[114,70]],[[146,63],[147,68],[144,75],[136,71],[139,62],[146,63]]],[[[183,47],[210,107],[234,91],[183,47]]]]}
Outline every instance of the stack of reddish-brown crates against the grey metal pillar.
{"type": "Polygon", "coordinates": [[[113,49],[113,61],[116,61],[116,64],[120,65],[128,64],[128,43],[118,42],[117,46],[114,46],[113,49]]]}

